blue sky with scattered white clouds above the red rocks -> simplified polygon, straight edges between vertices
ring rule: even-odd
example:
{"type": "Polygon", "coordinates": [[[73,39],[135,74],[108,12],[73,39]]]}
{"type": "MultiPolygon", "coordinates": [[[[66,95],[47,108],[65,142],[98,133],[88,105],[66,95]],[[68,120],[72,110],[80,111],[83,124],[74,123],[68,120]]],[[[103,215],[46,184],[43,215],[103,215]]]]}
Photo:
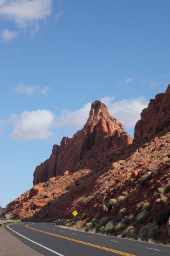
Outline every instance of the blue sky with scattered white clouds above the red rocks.
{"type": "Polygon", "coordinates": [[[0,0],[0,205],[102,100],[131,136],[170,78],[169,0],[0,0]]]}

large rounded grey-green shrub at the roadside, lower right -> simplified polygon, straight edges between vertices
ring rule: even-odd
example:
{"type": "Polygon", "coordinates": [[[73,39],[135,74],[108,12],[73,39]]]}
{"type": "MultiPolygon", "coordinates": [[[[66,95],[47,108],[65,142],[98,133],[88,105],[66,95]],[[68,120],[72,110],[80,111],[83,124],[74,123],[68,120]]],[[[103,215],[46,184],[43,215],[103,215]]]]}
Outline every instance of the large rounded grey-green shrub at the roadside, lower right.
{"type": "Polygon", "coordinates": [[[140,231],[138,233],[138,236],[142,240],[147,240],[148,238],[155,238],[158,234],[159,226],[155,223],[148,223],[142,228],[140,228],[140,231]]]}

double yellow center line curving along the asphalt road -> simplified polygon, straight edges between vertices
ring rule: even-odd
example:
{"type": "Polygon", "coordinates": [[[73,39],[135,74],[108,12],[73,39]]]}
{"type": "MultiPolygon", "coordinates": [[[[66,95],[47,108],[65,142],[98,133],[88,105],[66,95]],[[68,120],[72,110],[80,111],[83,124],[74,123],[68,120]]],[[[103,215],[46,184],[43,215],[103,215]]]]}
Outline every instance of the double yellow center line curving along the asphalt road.
{"type": "Polygon", "coordinates": [[[76,240],[76,239],[73,239],[73,238],[69,238],[67,236],[60,236],[59,234],[52,234],[50,232],[46,232],[46,231],[43,231],[43,230],[40,230],[40,229],[37,229],[37,228],[32,228],[32,227],[28,226],[28,224],[26,224],[25,227],[30,228],[30,229],[35,230],[35,231],[38,231],[38,232],[41,232],[43,234],[50,234],[50,236],[56,236],[58,238],[69,240],[69,241],[72,241],[72,242],[75,242],[75,243],[80,243],[80,244],[83,244],[83,245],[88,245],[90,247],[95,247],[95,248],[98,248],[98,249],[101,249],[101,250],[104,250],[104,251],[110,251],[112,253],[117,253],[119,255],[135,256],[135,255],[132,255],[132,254],[129,254],[129,253],[124,253],[122,251],[116,251],[114,249],[110,249],[110,248],[107,248],[107,247],[102,247],[100,245],[94,245],[94,244],[91,244],[91,243],[86,243],[86,242],[83,242],[83,241],[79,241],[79,240],[76,240]]]}

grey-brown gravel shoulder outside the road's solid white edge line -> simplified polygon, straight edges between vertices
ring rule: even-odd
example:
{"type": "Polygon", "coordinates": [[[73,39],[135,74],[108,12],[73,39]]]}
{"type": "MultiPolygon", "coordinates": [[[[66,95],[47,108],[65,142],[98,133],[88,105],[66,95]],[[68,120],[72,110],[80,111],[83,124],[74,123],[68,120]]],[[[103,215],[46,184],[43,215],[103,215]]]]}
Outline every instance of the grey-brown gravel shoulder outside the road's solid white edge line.
{"type": "Polygon", "coordinates": [[[42,256],[34,251],[15,236],[7,232],[5,228],[0,228],[0,255],[1,256],[42,256]]]}

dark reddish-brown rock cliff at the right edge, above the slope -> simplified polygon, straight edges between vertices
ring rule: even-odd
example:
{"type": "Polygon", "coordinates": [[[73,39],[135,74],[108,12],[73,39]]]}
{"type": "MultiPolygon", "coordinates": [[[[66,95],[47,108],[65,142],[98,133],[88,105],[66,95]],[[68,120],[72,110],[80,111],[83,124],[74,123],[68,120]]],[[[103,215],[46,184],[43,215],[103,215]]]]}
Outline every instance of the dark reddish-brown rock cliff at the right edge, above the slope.
{"type": "Polygon", "coordinates": [[[170,84],[165,93],[157,94],[155,100],[150,100],[140,116],[134,129],[135,140],[151,137],[170,126],[170,84]]]}

